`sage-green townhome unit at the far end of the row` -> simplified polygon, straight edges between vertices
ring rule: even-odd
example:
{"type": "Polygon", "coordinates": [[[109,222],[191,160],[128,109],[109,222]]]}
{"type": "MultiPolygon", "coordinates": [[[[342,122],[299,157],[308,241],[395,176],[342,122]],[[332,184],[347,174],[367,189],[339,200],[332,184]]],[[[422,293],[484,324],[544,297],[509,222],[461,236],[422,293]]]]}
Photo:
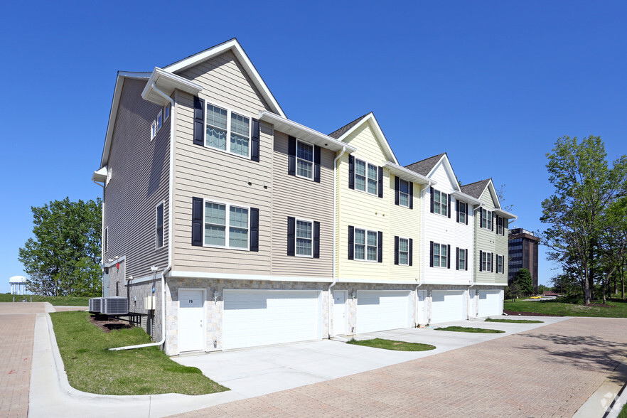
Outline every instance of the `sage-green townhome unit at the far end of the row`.
{"type": "Polygon", "coordinates": [[[508,285],[508,225],[516,216],[500,207],[491,178],[461,186],[481,203],[473,206],[474,282],[471,316],[503,314],[503,289],[508,285]]]}

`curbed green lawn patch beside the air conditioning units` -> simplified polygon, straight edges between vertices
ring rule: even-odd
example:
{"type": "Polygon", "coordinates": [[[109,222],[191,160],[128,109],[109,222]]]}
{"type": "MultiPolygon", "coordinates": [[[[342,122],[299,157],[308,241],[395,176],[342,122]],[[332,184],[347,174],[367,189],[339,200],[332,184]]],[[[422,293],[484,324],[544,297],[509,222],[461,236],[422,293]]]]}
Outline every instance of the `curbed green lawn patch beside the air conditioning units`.
{"type": "Polygon", "coordinates": [[[80,311],[50,314],[68,380],[77,390],[101,395],[204,395],[228,390],[198,368],[179,365],[156,346],[109,351],[149,343],[150,338],[141,328],[105,333],[89,317],[80,311]]]}

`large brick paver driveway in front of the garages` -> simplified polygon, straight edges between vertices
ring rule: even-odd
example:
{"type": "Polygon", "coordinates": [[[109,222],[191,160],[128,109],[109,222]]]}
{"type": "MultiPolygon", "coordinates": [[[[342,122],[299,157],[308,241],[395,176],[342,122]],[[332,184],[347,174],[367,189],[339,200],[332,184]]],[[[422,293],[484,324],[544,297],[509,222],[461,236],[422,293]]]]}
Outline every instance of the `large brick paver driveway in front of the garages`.
{"type": "Polygon", "coordinates": [[[180,416],[572,417],[626,354],[627,319],[573,318],[180,416]]]}

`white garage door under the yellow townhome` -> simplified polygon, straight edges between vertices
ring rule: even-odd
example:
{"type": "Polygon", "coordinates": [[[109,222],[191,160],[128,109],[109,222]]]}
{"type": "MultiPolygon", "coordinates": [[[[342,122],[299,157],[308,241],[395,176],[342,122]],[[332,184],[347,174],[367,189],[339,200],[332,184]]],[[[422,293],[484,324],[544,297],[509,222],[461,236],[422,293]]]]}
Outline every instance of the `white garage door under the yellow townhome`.
{"type": "Polygon", "coordinates": [[[409,291],[358,291],[357,332],[371,333],[411,326],[409,291]]]}

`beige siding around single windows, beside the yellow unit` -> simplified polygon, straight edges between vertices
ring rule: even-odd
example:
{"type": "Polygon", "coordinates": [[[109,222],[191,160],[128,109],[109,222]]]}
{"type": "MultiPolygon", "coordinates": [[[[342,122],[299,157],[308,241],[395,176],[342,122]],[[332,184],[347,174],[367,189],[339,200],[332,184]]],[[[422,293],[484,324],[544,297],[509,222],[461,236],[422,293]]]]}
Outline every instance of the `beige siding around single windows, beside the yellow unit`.
{"type": "Polygon", "coordinates": [[[333,159],[321,149],[320,183],[290,176],[288,136],[274,132],[272,168],[272,274],[292,277],[333,275],[333,159]],[[320,258],[287,255],[287,217],[320,223],[320,258]]]}

